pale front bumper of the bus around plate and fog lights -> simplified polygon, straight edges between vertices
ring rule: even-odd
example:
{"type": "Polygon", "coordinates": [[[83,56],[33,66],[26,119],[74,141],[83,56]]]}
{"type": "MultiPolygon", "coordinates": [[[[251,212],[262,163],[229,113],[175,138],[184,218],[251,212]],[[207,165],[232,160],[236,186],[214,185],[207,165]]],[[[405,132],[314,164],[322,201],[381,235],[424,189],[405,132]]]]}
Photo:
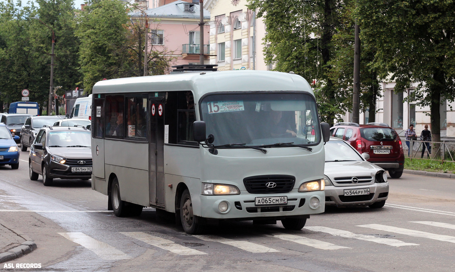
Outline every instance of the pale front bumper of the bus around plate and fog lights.
{"type": "MultiPolygon", "coordinates": [[[[201,195],[201,217],[209,219],[261,220],[284,218],[309,218],[310,214],[324,213],[325,193],[315,191],[307,193],[283,194],[249,194],[242,191],[239,195],[205,196],[201,195]],[[257,197],[287,196],[288,203],[280,205],[260,205],[254,203],[257,197]],[[319,200],[319,205],[313,208],[310,203],[319,200]],[[227,210],[220,211],[220,203],[227,203],[227,210]]],[[[222,204],[224,205],[224,204],[222,204]]]]}

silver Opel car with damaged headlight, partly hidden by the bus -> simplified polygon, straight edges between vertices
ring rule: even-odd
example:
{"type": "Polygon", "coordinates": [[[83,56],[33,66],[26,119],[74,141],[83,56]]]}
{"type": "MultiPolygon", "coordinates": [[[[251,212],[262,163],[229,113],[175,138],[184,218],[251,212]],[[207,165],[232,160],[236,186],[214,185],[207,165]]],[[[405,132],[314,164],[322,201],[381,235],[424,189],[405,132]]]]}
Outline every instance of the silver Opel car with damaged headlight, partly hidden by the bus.
{"type": "Polygon", "coordinates": [[[367,162],[349,143],[330,137],[325,143],[325,205],[384,207],[389,183],[384,169],[367,162]]]}

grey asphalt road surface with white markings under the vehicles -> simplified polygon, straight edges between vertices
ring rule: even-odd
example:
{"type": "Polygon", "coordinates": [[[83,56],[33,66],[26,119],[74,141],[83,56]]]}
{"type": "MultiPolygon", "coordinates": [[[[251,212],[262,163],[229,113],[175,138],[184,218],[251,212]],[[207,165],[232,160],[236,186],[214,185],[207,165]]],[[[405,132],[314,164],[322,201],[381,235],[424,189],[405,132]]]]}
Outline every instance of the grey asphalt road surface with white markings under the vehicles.
{"type": "Polygon", "coordinates": [[[301,231],[250,221],[189,236],[153,208],[116,218],[90,180],[31,181],[20,156],[0,167],[0,218],[38,245],[11,262],[42,264],[32,271],[455,271],[454,179],[389,178],[384,208],[331,209],[301,231]]]}

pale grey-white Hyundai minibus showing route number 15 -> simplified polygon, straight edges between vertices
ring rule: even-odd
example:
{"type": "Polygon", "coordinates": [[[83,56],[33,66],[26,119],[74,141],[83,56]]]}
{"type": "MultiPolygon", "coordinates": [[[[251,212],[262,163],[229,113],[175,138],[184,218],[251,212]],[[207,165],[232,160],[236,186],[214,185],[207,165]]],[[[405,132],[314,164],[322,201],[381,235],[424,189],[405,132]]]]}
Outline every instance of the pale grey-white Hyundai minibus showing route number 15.
{"type": "Polygon", "coordinates": [[[92,189],[116,216],[175,213],[185,232],[223,220],[303,228],[324,212],[324,143],[308,82],[214,71],[93,86],[92,189]]]}

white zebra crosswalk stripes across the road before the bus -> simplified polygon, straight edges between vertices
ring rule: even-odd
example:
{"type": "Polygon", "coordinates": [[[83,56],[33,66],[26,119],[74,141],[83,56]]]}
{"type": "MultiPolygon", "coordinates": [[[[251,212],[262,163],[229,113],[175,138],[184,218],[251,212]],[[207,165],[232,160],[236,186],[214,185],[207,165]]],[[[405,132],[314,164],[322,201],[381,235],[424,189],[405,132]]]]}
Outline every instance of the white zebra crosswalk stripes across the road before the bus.
{"type": "MultiPolygon", "coordinates": [[[[444,228],[455,230],[454,224],[443,223],[443,222],[432,222],[432,221],[411,221],[409,223],[415,223],[416,227],[419,225],[428,225],[431,227],[444,228]]],[[[263,254],[280,254],[281,252],[294,250],[294,251],[307,251],[309,248],[315,250],[355,250],[355,247],[359,247],[358,243],[353,241],[361,240],[368,242],[366,246],[370,246],[370,242],[378,243],[380,246],[391,246],[391,247],[402,247],[402,246],[420,246],[425,242],[425,239],[419,239],[420,243],[412,241],[412,237],[427,238],[430,240],[438,240],[442,242],[455,243],[455,237],[443,234],[437,234],[433,232],[423,232],[419,230],[407,229],[402,227],[387,226],[381,224],[365,224],[357,225],[353,227],[361,227],[363,229],[375,229],[389,233],[399,233],[405,235],[400,236],[400,239],[394,239],[390,237],[375,237],[373,235],[354,233],[347,230],[336,229],[331,227],[323,226],[307,226],[304,227],[302,232],[270,232],[270,233],[249,233],[248,241],[237,237],[222,237],[218,235],[187,235],[184,238],[192,241],[205,241],[210,243],[220,243],[223,246],[236,248],[243,252],[249,252],[252,254],[263,253],[263,254]],[[327,235],[321,235],[327,233],[327,235]],[[339,239],[337,237],[343,237],[339,239]],[[318,239],[315,239],[318,238],[318,239]],[[346,239],[347,238],[347,239],[346,239]],[[402,241],[404,240],[404,241],[402,241]],[[281,242],[279,242],[281,241],[281,242]],[[285,242],[283,242],[285,241],[285,242]],[[294,246],[283,245],[283,243],[289,242],[294,246]],[[296,249],[297,248],[297,249],[296,249]]],[[[173,254],[190,256],[190,255],[209,255],[212,254],[212,244],[210,247],[205,246],[202,243],[195,242],[181,242],[182,238],[166,236],[159,233],[147,233],[147,232],[117,232],[119,235],[128,237],[134,240],[138,240],[144,243],[156,247],[158,250],[164,250],[173,254]],[[166,237],[166,238],[163,238],[166,237]],[[197,249],[190,247],[190,244],[198,244],[197,249]]],[[[455,232],[454,232],[455,233],[455,232]]],[[[96,240],[95,238],[83,233],[83,232],[59,232],[61,236],[65,237],[72,242],[79,244],[82,247],[90,250],[104,260],[124,260],[131,259],[132,256],[123,252],[121,249],[116,248],[114,245],[107,242],[96,240]]],[[[243,233],[245,234],[245,233],[243,233]]],[[[449,233],[450,234],[450,233],[449,233]]],[[[243,236],[244,237],[244,236],[243,236]]],[[[187,241],[187,240],[186,240],[187,241]]],[[[136,242],[133,242],[136,244],[136,242]]],[[[215,247],[217,248],[217,247],[215,247]]],[[[202,257],[202,256],[201,256],[202,257]]]]}

